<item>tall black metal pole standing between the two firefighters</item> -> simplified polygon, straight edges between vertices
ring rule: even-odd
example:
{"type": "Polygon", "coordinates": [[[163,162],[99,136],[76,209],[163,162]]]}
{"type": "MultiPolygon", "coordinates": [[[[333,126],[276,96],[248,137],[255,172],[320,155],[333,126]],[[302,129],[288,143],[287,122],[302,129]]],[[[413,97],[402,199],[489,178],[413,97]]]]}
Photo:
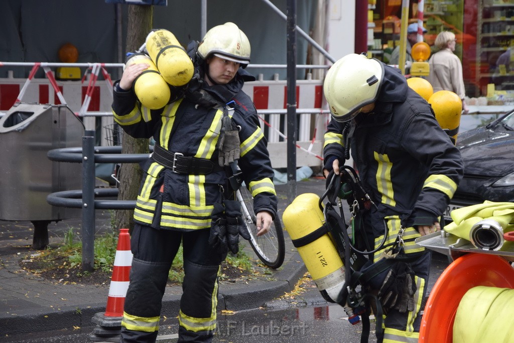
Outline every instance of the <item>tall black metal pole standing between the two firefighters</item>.
{"type": "Polygon", "coordinates": [[[296,0],[287,0],[287,203],[296,197],[296,0]]]}

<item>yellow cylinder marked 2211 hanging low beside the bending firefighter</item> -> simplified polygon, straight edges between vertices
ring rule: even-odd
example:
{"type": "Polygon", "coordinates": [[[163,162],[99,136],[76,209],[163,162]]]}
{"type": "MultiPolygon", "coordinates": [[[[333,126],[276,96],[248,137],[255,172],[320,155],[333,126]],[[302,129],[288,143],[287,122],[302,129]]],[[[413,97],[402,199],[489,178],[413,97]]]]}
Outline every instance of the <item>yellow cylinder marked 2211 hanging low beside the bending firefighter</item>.
{"type": "Polygon", "coordinates": [[[335,301],[344,285],[344,265],[328,233],[312,238],[324,222],[319,200],[314,193],[298,195],[285,209],[282,222],[318,290],[335,301]]]}

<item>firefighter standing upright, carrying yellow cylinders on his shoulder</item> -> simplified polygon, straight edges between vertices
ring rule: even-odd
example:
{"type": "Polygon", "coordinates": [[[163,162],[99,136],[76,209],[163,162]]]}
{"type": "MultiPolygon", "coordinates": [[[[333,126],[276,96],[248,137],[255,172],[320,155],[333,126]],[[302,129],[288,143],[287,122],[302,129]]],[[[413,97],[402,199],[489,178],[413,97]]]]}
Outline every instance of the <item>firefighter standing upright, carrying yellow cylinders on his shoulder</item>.
{"type": "MultiPolygon", "coordinates": [[[[179,342],[211,342],[216,329],[218,274],[230,249],[238,249],[241,207],[231,200],[232,166],[250,189],[257,236],[277,215],[267,142],[255,106],[242,91],[253,81],[244,68],[250,43],[234,23],[211,28],[187,49],[194,75],[157,110],[133,90],[143,63],[127,66],[114,84],[114,119],[125,133],[155,139],[134,211],[130,285],[121,342],[155,342],[162,296],[179,246],[183,248],[179,342]],[[228,147],[228,148],[227,148],[228,147]]],[[[249,238],[249,237],[247,237],[249,238]]]]}

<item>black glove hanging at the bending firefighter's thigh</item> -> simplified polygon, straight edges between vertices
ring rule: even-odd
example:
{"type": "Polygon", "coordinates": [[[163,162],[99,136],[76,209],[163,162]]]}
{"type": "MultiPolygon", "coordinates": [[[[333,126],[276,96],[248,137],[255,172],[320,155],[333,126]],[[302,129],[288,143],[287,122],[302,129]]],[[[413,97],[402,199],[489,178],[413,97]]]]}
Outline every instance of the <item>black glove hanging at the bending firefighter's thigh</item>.
{"type": "Polygon", "coordinates": [[[378,299],[385,313],[390,309],[405,313],[414,310],[415,292],[416,283],[412,268],[407,263],[398,261],[386,275],[378,292],[378,299]]]}

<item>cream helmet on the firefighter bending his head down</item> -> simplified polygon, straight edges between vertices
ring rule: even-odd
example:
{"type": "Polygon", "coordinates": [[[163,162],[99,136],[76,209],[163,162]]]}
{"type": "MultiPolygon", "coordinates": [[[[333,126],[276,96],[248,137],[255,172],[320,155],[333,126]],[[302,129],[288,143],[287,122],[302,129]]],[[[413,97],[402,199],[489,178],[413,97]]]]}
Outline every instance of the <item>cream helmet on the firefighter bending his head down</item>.
{"type": "Polygon", "coordinates": [[[383,77],[383,64],[364,55],[351,53],[334,63],[323,83],[323,93],[334,120],[351,120],[363,106],[375,102],[383,77]]]}

